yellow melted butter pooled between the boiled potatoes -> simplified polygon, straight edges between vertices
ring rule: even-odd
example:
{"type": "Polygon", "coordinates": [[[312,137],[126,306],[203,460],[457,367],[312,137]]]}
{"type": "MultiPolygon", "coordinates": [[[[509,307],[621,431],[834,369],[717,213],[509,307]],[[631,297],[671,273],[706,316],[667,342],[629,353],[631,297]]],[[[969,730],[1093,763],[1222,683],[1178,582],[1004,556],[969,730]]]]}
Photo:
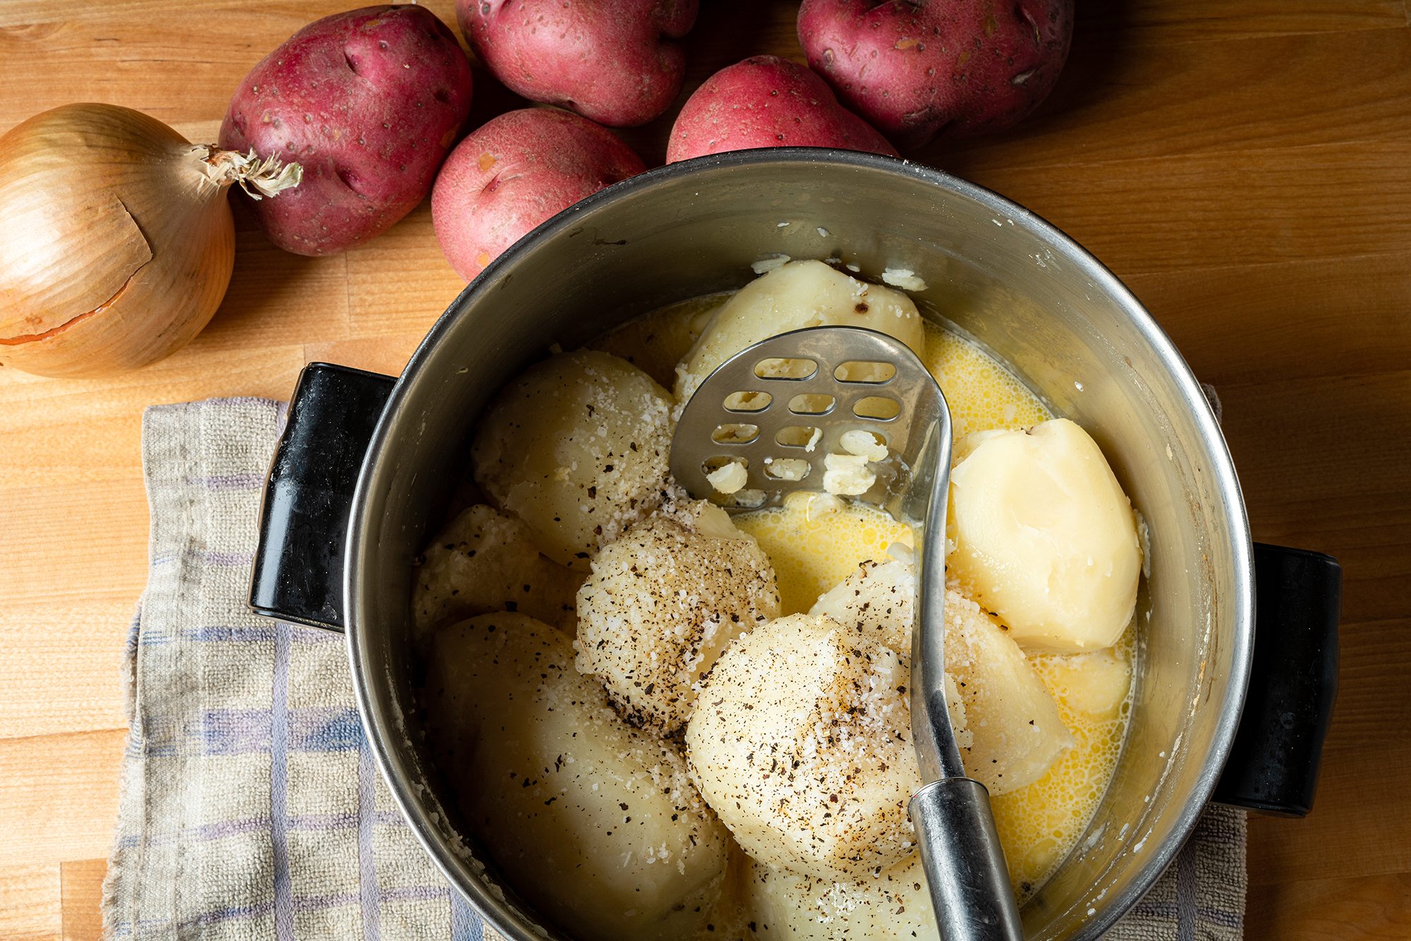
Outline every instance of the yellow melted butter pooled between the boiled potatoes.
{"type": "MultiPolygon", "coordinates": [[[[933,323],[926,324],[923,361],[945,394],[957,439],[1053,418],[1003,365],[933,323]]],[[[892,542],[912,545],[909,528],[882,509],[847,504],[820,512],[827,506],[820,499],[827,501],[796,492],[782,506],[734,518],[773,563],[786,615],[809,611],[858,563],[883,559],[892,542]]],[[[1020,901],[1068,855],[1106,791],[1126,735],[1132,655],[1129,626],[1110,650],[1029,656],[1078,743],[1033,784],[991,801],[1020,901]]]]}

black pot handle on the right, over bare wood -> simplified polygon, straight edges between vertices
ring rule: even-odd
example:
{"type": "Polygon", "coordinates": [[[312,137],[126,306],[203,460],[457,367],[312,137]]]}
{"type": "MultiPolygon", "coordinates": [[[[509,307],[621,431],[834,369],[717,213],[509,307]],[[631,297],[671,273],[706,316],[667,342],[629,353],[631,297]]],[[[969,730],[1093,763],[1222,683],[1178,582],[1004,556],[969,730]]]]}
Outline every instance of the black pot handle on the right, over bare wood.
{"type": "Polygon", "coordinates": [[[1338,698],[1342,567],[1318,552],[1254,543],[1254,591],[1245,711],[1212,800],[1302,817],[1338,698]]]}

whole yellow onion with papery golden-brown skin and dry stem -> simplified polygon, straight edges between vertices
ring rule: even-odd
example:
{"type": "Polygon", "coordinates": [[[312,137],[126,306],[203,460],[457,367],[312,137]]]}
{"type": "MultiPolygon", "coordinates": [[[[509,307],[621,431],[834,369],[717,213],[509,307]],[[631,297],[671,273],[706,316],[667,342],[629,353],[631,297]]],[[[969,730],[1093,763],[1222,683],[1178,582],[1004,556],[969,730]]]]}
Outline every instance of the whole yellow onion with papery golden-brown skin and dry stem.
{"type": "Polygon", "coordinates": [[[226,189],[299,166],[193,145],[114,104],[65,104],[0,137],[0,364],[110,375],[190,341],[236,261],[226,189]]]}

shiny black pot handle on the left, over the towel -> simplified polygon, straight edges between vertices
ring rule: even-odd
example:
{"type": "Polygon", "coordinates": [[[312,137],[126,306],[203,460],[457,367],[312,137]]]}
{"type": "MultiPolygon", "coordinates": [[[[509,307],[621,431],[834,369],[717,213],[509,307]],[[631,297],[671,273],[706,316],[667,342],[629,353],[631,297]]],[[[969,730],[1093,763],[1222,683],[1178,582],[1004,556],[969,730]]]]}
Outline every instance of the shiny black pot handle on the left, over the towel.
{"type": "Polygon", "coordinates": [[[343,549],[353,490],[396,380],[332,363],[299,374],[260,511],[250,608],[343,632],[343,549]]]}

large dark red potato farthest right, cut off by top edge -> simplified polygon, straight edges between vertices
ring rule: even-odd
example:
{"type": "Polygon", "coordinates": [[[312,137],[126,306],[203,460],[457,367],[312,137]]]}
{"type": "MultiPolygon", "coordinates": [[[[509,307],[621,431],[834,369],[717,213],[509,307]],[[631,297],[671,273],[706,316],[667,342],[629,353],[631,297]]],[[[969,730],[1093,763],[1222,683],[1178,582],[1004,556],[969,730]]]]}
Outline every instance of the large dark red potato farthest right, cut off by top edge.
{"type": "Polygon", "coordinates": [[[1048,96],[1074,0],[803,0],[799,42],[903,151],[1012,127],[1048,96]]]}

